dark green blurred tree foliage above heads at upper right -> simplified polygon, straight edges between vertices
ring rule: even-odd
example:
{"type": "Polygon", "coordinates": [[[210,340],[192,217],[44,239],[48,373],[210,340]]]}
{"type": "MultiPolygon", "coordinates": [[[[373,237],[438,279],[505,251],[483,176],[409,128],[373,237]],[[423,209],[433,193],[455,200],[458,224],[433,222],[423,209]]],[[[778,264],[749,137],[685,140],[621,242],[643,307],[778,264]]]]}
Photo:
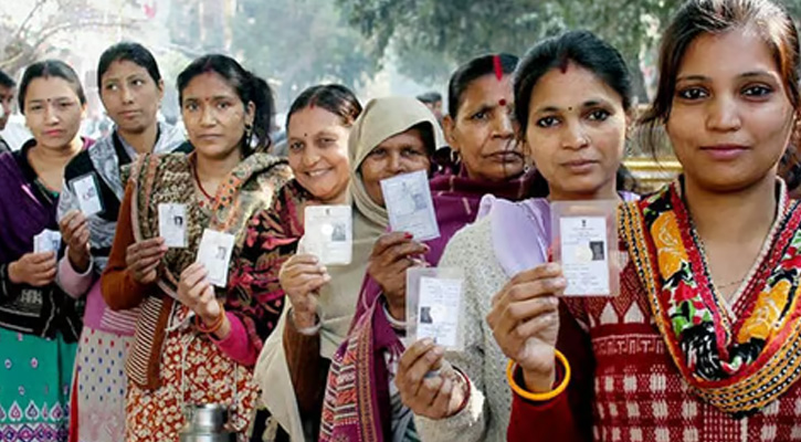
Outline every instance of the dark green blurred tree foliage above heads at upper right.
{"type": "MultiPolygon", "coordinates": [[[[542,38],[587,29],[612,43],[630,62],[653,62],[658,36],[681,0],[336,0],[348,22],[381,55],[388,48],[402,72],[420,81],[446,78],[453,67],[487,52],[523,55],[542,38]]],[[[789,0],[791,13],[800,0],[789,0]]],[[[637,70],[635,82],[642,78],[637,70]]],[[[642,95],[642,87],[641,87],[642,95]]]]}

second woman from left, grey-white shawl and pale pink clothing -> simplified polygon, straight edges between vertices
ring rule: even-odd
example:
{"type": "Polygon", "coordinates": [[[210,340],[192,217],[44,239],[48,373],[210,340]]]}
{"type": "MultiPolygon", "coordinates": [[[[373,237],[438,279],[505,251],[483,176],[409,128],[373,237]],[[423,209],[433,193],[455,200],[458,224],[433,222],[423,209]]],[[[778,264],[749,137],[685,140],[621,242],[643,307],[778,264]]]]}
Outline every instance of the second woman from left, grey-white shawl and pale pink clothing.
{"type": "Polygon", "coordinates": [[[133,343],[138,309],[107,308],[99,277],[108,262],[125,192],[120,170],[139,154],[168,152],[185,143],[180,130],[156,119],[164,81],[146,48],[129,42],[108,48],[101,55],[97,84],[101,101],[116,128],[70,161],[64,182],[93,176],[104,209],[86,217],[68,186],[59,200],[59,225],[66,252],[59,263],[56,280],[70,296],[86,295],[70,425],[71,439],[81,442],[125,439],[126,379],[122,368],[133,343]]]}

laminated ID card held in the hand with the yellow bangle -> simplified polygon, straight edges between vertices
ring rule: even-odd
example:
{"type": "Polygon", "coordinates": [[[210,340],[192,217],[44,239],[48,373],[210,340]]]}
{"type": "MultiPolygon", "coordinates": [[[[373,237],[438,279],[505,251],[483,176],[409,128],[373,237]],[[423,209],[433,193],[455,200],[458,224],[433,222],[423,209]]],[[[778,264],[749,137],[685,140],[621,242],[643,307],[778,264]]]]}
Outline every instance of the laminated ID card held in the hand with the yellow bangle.
{"type": "Polygon", "coordinates": [[[620,293],[619,201],[551,202],[551,251],[568,282],[565,296],[620,293]]]}

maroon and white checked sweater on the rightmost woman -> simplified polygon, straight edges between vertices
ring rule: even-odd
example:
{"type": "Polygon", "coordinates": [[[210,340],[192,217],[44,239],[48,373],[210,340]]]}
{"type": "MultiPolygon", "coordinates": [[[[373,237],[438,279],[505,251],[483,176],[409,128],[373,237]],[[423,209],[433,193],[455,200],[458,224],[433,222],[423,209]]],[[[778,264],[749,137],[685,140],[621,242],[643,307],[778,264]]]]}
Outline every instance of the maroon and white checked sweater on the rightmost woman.
{"type": "MultiPolygon", "coordinates": [[[[742,314],[747,296],[733,306],[742,314]]],[[[547,403],[515,394],[509,441],[740,442],[801,440],[795,383],[755,415],[735,419],[703,402],[671,359],[630,264],[621,295],[566,301],[558,347],[573,379],[547,403]],[[571,317],[572,316],[572,317],[571,317]]]]}

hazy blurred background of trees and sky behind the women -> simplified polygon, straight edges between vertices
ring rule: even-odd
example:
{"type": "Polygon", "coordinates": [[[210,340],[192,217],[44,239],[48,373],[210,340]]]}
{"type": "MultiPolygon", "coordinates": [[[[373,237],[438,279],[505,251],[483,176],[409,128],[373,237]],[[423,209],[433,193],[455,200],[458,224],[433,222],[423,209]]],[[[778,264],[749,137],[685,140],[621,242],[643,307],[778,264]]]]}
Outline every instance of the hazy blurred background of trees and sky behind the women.
{"type": "MultiPolygon", "coordinates": [[[[82,75],[89,96],[84,133],[110,129],[97,98],[95,69],[108,45],[134,40],[157,56],[168,85],[161,117],[180,124],[177,74],[194,57],[220,52],[267,78],[278,117],[305,87],[338,82],[360,98],[435,91],[484,53],[523,55],[566,29],[589,29],[626,57],[641,104],[655,86],[661,32],[678,0],[4,0],[0,69],[19,78],[33,61],[56,57],[82,75]]],[[[801,0],[788,8],[798,15],[801,0]]],[[[27,134],[19,114],[3,136],[27,134]]],[[[668,156],[668,149],[658,156],[668,156]]],[[[642,157],[636,143],[632,158],[642,157]]],[[[644,165],[647,166],[647,165],[644,165]]]]}

